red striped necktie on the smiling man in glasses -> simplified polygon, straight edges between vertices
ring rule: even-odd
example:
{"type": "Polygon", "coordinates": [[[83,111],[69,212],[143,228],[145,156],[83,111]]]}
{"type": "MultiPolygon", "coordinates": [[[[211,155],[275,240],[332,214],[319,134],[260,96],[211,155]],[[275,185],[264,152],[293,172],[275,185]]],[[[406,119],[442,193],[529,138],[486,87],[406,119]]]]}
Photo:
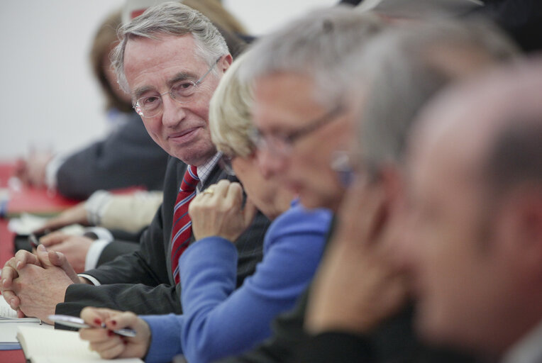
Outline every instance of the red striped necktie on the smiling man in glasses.
{"type": "Polygon", "coordinates": [[[175,284],[179,284],[179,257],[187,249],[192,235],[192,220],[188,215],[190,201],[196,196],[199,182],[197,168],[189,165],[182,178],[175,208],[173,209],[173,227],[171,230],[171,270],[175,284]]]}

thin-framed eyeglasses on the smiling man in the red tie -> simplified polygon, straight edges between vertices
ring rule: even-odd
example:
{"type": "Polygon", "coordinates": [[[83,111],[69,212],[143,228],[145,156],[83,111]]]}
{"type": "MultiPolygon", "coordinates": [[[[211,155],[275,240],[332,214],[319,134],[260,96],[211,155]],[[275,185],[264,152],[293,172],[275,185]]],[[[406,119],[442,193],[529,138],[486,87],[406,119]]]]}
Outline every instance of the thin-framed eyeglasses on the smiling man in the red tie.
{"type": "Polygon", "coordinates": [[[150,96],[143,96],[136,101],[136,104],[133,105],[133,108],[136,110],[139,116],[150,118],[157,116],[163,111],[162,106],[162,96],[165,94],[170,94],[171,98],[179,104],[187,104],[193,100],[194,94],[196,93],[199,84],[204,81],[207,74],[211,72],[214,66],[219,62],[220,58],[211,65],[209,70],[205,72],[196,82],[189,79],[183,79],[182,81],[175,82],[170,88],[169,91],[164,92],[163,94],[153,94],[150,96]]]}

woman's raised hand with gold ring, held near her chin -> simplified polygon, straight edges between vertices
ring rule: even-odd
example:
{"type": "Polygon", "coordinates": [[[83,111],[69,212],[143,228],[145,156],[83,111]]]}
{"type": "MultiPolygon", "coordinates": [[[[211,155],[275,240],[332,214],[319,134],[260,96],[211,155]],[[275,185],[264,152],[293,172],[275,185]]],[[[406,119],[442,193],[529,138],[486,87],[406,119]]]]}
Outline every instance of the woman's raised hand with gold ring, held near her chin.
{"type": "Polygon", "coordinates": [[[207,190],[198,194],[188,208],[194,237],[201,240],[220,236],[234,242],[252,222],[256,207],[247,199],[243,208],[243,188],[239,183],[221,180],[207,190]]]}

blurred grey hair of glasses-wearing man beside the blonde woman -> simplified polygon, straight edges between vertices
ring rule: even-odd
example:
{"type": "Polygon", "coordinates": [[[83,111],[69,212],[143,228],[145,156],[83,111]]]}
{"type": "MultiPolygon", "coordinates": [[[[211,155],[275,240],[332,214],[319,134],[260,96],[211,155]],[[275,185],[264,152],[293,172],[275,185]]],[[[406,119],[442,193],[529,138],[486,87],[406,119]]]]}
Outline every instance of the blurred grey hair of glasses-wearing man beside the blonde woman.
{"type": "Polygon", "coordinates": [[[313,11],[256,41],[240,77],[256,79],[278,72],[304,74],[314,80],[315,101],[331,106],[345,94],[351,75],[346,57],[384,28],[379,17],[335,6],[313,11]]]}

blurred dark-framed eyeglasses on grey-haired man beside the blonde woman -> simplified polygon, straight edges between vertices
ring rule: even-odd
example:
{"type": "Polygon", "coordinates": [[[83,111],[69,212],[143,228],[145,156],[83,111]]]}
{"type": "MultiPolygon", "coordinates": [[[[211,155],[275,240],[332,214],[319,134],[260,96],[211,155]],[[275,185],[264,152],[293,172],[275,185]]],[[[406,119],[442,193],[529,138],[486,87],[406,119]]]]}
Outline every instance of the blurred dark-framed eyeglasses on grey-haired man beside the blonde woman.
{"type": "Polygon", "coordinates": [[[255,129],[250,135],[250,140],[252,140],[254,145],[260,150],[272,151],[276,155],[281,156],[289,155],[292,151],[292,146],[297,140],[304,138],[306,135],[313,133],[323,125],[335,120],[343,113],[343,111],[345,111],[345,108],[342,105],[336,106],[320,118],[316,118],[316,120],[311,121],[304,127],[290,133],[266,135],[261,133],[260,130],[255,129]]]}

